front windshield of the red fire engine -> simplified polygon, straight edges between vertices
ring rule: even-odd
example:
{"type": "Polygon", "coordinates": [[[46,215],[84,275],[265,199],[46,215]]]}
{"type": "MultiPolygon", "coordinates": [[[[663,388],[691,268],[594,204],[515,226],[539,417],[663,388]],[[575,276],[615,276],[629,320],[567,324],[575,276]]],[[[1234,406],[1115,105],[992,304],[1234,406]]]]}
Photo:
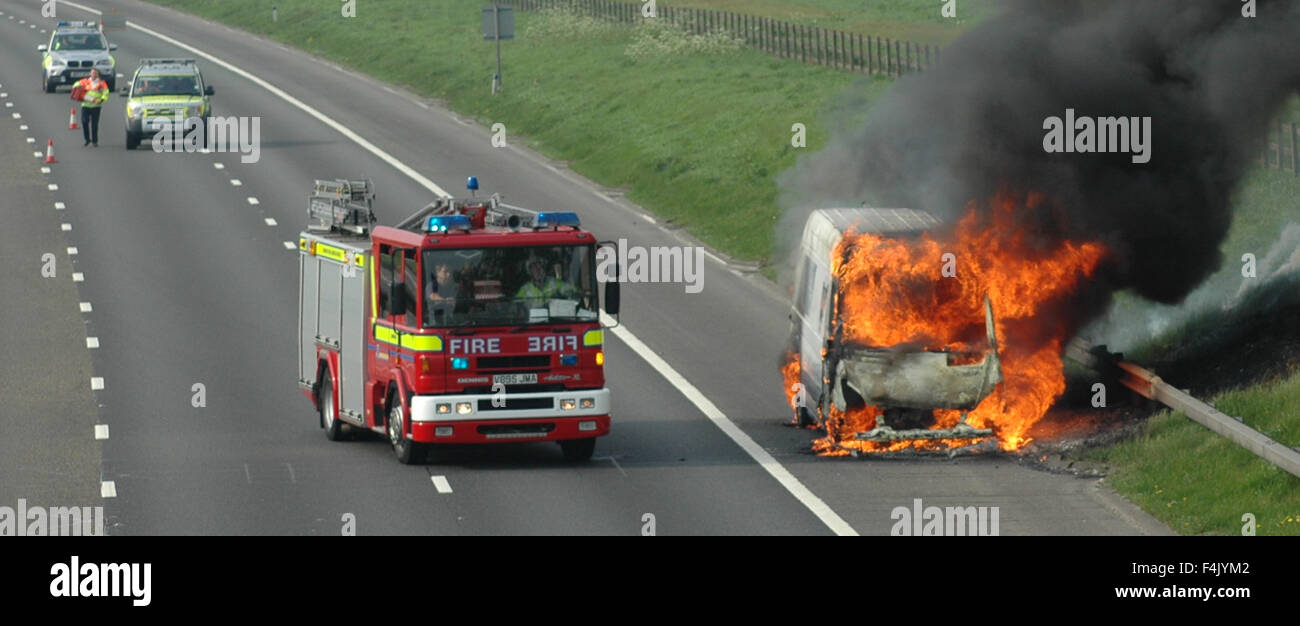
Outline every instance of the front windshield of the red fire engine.
{"type": "Polygon", "coordinates": [[[598,317],[595,248],[424,252],[424,326],[586,322],[598,317]]]}

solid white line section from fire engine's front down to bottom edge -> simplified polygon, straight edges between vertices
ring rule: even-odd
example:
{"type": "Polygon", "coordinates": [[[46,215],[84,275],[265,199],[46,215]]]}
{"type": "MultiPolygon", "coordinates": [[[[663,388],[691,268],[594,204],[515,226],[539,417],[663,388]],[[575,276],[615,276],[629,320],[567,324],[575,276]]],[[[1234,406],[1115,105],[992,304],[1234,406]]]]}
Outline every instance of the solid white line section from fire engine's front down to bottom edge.
{"type": "MultiPolygon", "coordinates": [[[[601,312],[601,323],[614,326],[616,322],[612,317],[601,312]]],[[[686,381],[686,378],[679,374],[677,370],[672,369],[672,366],[650,349],[650,347],[641,343],[641,339],[637,339],[636,335],[628,332],[624,326],[614,326],[610,331],[621,339],[623,343],[628,344],[628,347],[632,348],[632,351],[641,358],[645,358],[645,361],[650,364],[655,371],[668,379],[670,384],[677,387],[677,391],[681,391],[681,395],[686,396],[686,400],[690,400],[690,403],[694,404],[696,408],[705,414],[705,417],[707,417],[715,426],[718,426],[719,430],[736,442],[736,444],[740,445],[741,449],[744,449],[745,453],[748,453],[755,462],[758,462],[759,466],[767,470],[767,473],[771,474],[776,482],[781,483],[781,486],[785,487],[785,491],[789,491],[790,495],[803,504],[803,507],[807,507],[807,509],[811,510],[818,520],[822,520],[822,523],[827,525],[827,527],[829,527],[836,535],[857,536],[858,531],[853,530],[853,526],[849,526],[849,522],[845,522],[835,510],[831,509],[831,507],[822,501],[816,494],[812,494],[812,491],[805,487],[798,478],[794,478],[794,474],[790,474],[785,466],[777,462],[776,458],[772,458],[772,455],[750,439],[744,430],[740,430],[740,427],[736,426],[736,423],[732,422],[712,401],[705,397],[705,395],[701,394],[699,390],[690,383],[690,381],[686,381]]]]}

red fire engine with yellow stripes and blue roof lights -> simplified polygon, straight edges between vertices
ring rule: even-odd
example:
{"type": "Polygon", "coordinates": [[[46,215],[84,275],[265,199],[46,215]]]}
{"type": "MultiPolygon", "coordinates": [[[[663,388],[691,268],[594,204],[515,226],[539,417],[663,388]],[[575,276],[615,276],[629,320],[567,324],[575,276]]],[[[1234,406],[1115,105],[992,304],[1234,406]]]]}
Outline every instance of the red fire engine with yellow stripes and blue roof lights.
{"type": "MultiPolygon", "coordinates": [[[[390,227],[373,199],[369,181],[316,181],[298,239],[298,383],[326,436],[385,434],[403,464],[439,443],[558,442],[590,458],[610,390],[599,244],[577,216],[439,197],[390,227]]],[[[616,281],[604,310],[618,314],[616,281]]]]}

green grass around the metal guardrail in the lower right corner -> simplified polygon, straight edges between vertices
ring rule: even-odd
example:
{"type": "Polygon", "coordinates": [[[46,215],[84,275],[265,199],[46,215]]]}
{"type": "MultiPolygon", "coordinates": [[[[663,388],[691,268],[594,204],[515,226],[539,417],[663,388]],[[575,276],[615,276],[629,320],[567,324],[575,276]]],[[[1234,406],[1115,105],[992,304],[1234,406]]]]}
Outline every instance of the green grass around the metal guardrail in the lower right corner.
{"type": "MultiPolygon", "coordinates": [[[[1223,394],[1214,405],[1284,445],[1300,445],[1300,371],[1223,394]]],[[[1112,465],[1110,484],[1180,534],[1240,535],[1242,516],[1252,513],[1258,535],[1300,535],[1300,478],[1182,413],[1161,413],[1139,436],[1089,457],[1112,465]]]]}

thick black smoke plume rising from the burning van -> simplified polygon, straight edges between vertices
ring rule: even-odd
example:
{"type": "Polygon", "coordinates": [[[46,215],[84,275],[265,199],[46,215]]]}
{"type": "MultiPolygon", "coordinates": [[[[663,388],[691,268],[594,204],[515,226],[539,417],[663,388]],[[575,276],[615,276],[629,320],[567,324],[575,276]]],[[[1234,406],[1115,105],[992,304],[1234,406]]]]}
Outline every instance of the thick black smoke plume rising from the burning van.
{"type": "MultiPolygon", "coordinates": [[[[1088,317],[1110,290],[1176,303],[1219,266],[1231,194],[1300,87],[1300,0],[1254,12],[1238,0],[1010,1],[900,79],[862,129],[833,129],[781,175],[781,201],[950,219],[1002,188],[1044,192],[1049,214],[1024,222],[1044,244],[1100,240],[1113,253],[1093,303],[1078,303],[1088,317]],[[1066,108],[1149,116],[1150,161],[1046,153],[1044,119],[1066,108]]],[[[781,231],[797,238],[803,219],[789,210],[781,231]]]]}

